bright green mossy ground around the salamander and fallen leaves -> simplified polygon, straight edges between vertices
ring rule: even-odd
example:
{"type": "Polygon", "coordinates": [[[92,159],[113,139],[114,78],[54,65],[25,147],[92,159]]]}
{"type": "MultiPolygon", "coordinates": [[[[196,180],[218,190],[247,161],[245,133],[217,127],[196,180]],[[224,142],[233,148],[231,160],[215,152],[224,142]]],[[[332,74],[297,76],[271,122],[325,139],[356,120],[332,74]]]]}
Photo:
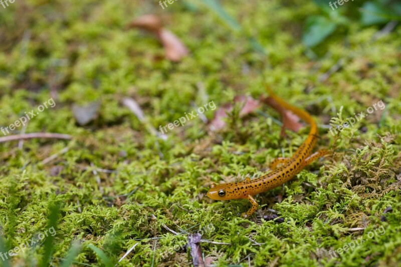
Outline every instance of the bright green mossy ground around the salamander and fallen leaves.
{"type": "MultiPolygon", "coordinates": [[[[182,249],[186,234],[174,235],[163,225],[230,243],[201,243],[205,258],[219,266],[400,264],[401,28],[375,40],[379,27],[350,25],[311,59],[300,36],[305,19],[318,12],[313,3],[225,1],[228,13],[265,47],[264,56],[244,35],[192,4],[176,1],[162,10],[148,1],[16,0],[0,7],[0,125],[47,101],[53,90],[56,106],[33,118],[26,132],[73,136],[27,140],[22,149],[18,142],[0,144],[5,245],[13,248],[45,231],[49,206],[59,203],[52,265],[63,262],[73,240],[82,242],[77,266],[104,263],[89,244],[116,261],[135,243],[120,266],[191,264],[182,249]],[[188,57],[164,60],[152,35],[127,30],[132,19],[148,13],[161,16],[190,50],[188,57]],[[319,80],[339,60],[342,67],[319,80]],[[274,158],[295,151],[307,127],[281,138],[272,120],[279,116],[262,106],[241,119],[233,112],[218,133],[193,119],[164,141],[121,104],[124,97],[134,98],[158,128],[194,110],[193,103],[213,100],[219,108],[236,95],[259,98],[265,84],[308,110],[321,125],[317,148],[336,152],[258,195],[261,207],[250,219],[239,217],[250,207],[247,200],[212,201],[205,195],[209,185],[262,174],[274,158]],[[78,126],[72,104],[95,100],[101,102],[99,117],[78,126]],[[336,136],[324,127],[379,100],[385,109],[336,136]],[[383,214],[387,207],[392,211],[383,214]],[[279,219],[265,220],[272,210],[279,219]],[[352,229],[357,227],[363,229],[352,229]],[[377,229],[385,232],[370,238],[377,229]],[[330,256],[360,237],[365,242],[352,251],[330,256]]],[[[212,119],[213,113],[205,115],[212,119]]],[[[37,244],[11,263],[36,265],[45,250],[37,244]]]]}

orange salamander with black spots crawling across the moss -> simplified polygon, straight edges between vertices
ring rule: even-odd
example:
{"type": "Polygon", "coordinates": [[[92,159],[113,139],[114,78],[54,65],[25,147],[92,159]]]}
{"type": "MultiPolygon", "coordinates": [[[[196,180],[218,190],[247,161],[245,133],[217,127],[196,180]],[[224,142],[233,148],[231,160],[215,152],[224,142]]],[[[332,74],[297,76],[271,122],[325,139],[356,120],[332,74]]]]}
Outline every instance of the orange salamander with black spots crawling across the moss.
{"type": "Polygon", "coordinates": [[[274,94],[270,88],[267,88],[267,91],[279,105],[292,111],[298,117],[309,123],[310,132],[308,138],[306,138],[305,142],[295,151],[291,158],[276,158],[270,164],[272,172],[266,173],[253,180],[247,177],[244,181],[237,183],[211,184],[207,196],[212,199],[229,200],[247,198],[252,203],[252,207],[246,213],[242,213],[242,217],[244,218],[251,216],[259,206],[253,197],[254,195],[288,182],[306,165],[329,153],[328,150],[323,149],[312,154],[312,150],[318,138],[318,130],[314,119],[309,113],[286,103],[283,99],[274,94]],[[279,164],[283,165],[277,167],[279,164]]]}

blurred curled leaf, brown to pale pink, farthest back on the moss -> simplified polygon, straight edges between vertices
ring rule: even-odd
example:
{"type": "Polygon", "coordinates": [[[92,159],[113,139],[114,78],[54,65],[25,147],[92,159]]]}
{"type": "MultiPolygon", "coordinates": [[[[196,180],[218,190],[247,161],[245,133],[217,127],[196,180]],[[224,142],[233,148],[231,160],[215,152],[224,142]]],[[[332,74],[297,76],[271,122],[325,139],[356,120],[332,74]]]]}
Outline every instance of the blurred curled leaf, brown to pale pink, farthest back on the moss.
{"type": "Polygon", "coordinates": [[[132,21],[128,28],[139,28],[156,35],[164,47],[165,57],[171,61],[180,61],[188,55],[185,45],[173,33],[164,29],[161,20],[155,15],[144,15],[132,21]]]}

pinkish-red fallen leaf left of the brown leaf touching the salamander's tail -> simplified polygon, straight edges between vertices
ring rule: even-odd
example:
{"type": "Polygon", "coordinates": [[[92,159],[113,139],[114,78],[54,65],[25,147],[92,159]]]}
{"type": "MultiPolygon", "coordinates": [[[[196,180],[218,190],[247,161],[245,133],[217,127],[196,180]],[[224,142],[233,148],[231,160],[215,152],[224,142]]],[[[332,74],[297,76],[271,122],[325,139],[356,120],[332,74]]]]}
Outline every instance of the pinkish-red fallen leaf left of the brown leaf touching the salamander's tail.
{"type": "MultiPolygon", "coordinates": [[[[242,103],[242,108],[240,111],[240,116],[243,117],[252,113],[255,109],[260,106],[260,102],[251,96],[236,96],[234,97],[234,103],[242,103]]],[[[223,120],[227,118],[230,111],[233,110],[233,105],[231,103],[223,105],[215,112],[215,116],[211,122],[211,128],[213,131],[220,130],[226,126],[226,122],[223,120]]]]}

